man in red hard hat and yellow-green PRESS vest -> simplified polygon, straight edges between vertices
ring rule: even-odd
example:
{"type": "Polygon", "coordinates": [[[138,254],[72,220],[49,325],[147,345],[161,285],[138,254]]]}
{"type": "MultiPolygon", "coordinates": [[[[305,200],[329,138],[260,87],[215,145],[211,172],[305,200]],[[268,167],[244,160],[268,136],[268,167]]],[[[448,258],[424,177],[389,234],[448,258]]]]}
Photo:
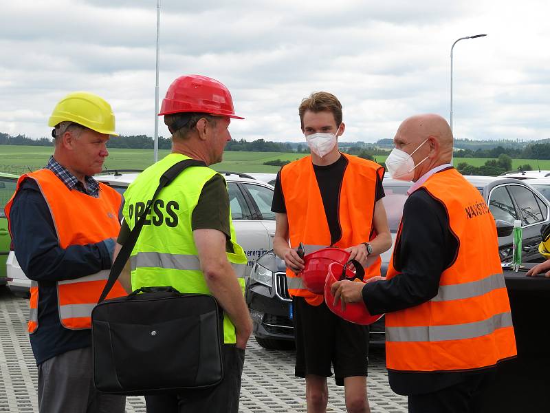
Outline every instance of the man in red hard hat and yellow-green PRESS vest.
{"type": "Polygon", "coordinates": [[[121,277],[129,290],[172,286],[181,293],[213,295],[224,311],[224,376],[212,388],[145,396],[147,412],[237,413],[252,332],[243,297],[247,259],[236,243],[225,180],[209,166],[221,161],[231,139],[230,119],[242,118],[235,115],[227,87],[199,75],[173,81],[159,115],[164,115],[172,134],[172,153],[140,173],[124,193],[124,222],[115,253],[135,225],[135,211],[151,200],[160,176],[182,160],[202,161],[179,173],[159,193],[151,220],[146,220],[131,253],[131,283],[129,269],[121,277]]]}

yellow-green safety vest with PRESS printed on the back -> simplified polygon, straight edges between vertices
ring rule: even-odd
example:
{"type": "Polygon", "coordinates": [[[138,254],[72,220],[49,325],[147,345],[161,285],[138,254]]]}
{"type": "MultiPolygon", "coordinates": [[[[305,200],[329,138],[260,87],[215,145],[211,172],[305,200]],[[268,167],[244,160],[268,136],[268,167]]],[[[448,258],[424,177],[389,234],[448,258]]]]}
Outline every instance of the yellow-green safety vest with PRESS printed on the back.
{"type": "MultiPolygon", "coordinates": [[[[146,203],[151,203],[162,173],[186,159],[189,157],[170,153],[145,169],[129,185],[124,192],[122,213],[130,229],[145,210],[146,203]]],[[[130,256],[133,290],[144,286],[172,286],[180,293],[211,294],[193,240],[191,215],[204,184],[216,173],[208,167],[188,167],[159,193],[130,256]]],[[[247,259],[243,248],[236,243],[231,213],[229,221],[234,253],[225,254],[244,294],[247,259]]],[[[223,317],[223,333],[225,343],[235,343],[235,328],[227,315],[223,317]]]]}

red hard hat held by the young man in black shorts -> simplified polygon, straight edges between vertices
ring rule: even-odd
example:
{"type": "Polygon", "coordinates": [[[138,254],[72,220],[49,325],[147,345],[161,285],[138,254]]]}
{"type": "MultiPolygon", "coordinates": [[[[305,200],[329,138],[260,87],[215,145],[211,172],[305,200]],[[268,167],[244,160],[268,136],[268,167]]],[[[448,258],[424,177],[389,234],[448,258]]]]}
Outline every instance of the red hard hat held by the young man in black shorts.
{"type": "Polygon", "coordinates": [[[342,266],[349,259],[349,252],[340,248],[322,248],[314,253],[304,255],[304,269],[300,271],[302,284],[311,293],[322,294],[329,265],[340,262],[342,266]]]}

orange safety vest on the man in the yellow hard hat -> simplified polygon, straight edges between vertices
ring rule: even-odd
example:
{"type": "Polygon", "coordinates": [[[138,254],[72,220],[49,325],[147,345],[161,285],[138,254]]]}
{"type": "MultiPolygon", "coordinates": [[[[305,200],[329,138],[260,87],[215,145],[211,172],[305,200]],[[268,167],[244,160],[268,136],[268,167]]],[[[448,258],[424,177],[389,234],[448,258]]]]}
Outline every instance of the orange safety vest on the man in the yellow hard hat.
{"type": "MultiPolygon", "coordinates": [[[[34,179],[39,186],[52,214],[61,248],[96,244],[107,238],[117,237],[120,231],[118,222],[118,209],[122,202],[120,194],[102,183],[100,183],[98,198],[76,190],[71,191],[50,169],[25,173],[19,178],[12,199],[5,205],[8,228],[10,228],[10,209],[13,200],[21,183],[27,178],[34,179]]],[[[96,306],[108,277],[109,270],[103,270],[96,274],[57,282],[59,318],[65,328],[71,330],[91,328],[91,310],[96,306]]],[[[117,282],[107,298],[123,295],[126,295],[126,292],[117,282]]],[[[35,332],[39,326],[38,304],[39,284],[32,281],[28,323],[30,333],[35,332]]]]}

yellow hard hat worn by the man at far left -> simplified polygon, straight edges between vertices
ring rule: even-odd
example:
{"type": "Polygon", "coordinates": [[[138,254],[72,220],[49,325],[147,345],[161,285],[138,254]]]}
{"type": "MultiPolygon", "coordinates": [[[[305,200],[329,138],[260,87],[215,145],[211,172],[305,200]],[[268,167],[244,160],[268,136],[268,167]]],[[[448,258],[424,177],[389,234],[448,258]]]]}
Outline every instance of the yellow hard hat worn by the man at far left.
{"type": "Polygon", "coordinates": [[[72,92],[59,100],[47,125],[55,127],[67,121],[78,123],[100,134],[118,136],[111,105],[89,92],[72,92]]]}

